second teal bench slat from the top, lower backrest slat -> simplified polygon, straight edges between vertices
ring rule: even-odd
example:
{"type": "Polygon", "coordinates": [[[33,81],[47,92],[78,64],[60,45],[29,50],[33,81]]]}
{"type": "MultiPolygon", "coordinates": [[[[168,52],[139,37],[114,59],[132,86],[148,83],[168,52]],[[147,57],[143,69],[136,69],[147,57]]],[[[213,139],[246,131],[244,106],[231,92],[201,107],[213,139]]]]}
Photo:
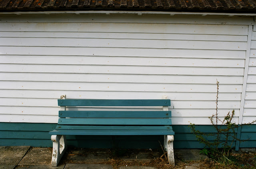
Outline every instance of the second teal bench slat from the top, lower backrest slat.
{"type": "Polygon", "coordinates": [[[78,118],[171,118],[171,111],[59,111],[59,117],[78,118]]]}

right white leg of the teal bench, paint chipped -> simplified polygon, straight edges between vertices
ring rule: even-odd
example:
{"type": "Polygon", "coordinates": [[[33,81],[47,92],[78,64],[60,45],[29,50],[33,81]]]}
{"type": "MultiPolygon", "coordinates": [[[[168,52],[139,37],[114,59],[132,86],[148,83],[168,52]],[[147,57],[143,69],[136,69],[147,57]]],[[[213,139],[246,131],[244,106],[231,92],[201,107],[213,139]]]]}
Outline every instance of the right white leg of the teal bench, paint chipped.
{"type": "Polygon", "coordinates": [[[167,158],[170,165],[174,164],[174,152],[173,152],[173,135],[165,135],[164,136],[164,149],[167,151],[167,158]]]}

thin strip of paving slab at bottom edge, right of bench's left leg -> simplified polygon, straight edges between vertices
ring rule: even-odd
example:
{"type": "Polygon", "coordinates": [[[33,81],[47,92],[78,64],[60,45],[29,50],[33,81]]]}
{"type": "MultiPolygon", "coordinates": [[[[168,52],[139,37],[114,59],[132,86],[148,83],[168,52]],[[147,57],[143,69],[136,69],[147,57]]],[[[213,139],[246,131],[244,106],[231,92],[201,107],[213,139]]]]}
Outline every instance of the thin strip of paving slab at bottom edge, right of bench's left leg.
{"type": "Polygon", "coordinates": [[[64,169],[113,169],[109,164],[66,164],[64,169]]]}

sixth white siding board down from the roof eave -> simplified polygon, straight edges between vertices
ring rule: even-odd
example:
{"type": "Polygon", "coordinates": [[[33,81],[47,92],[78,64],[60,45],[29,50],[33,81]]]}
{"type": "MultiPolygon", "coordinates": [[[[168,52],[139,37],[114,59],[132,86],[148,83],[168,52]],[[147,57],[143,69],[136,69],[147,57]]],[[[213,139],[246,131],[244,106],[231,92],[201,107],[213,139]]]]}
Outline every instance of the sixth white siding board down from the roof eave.
{"type": "Polygon", "coordinates": [[[132,65],[182,67],[244,67],[244,59],[200,59],[107,56],[0,55],[0,63],[47,65],[132,65]]]}

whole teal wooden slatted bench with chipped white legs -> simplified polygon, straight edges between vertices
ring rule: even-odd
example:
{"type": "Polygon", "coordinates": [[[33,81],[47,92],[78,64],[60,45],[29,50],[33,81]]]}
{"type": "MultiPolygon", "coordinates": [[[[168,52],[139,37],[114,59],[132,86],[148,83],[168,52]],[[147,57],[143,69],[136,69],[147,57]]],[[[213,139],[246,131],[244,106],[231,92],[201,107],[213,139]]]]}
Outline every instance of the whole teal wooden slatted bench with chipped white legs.
{"type": "MultiPolygon", "coordinates": [[[[56,167],[67,145],[65,135],[164,135],[164,149],[168,161],[174,165],[170,100],[101,100],[65,99],[58,100],[60,106],[58,125],[49,132],[53,141],[52,166],[56,167]],[[162,111],[91,111],[66,110],[66,106],[163,106],[162,111]]],[[[96,107],[95,107],[96,106],[96,107]]]]}

